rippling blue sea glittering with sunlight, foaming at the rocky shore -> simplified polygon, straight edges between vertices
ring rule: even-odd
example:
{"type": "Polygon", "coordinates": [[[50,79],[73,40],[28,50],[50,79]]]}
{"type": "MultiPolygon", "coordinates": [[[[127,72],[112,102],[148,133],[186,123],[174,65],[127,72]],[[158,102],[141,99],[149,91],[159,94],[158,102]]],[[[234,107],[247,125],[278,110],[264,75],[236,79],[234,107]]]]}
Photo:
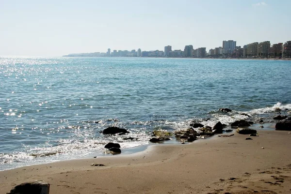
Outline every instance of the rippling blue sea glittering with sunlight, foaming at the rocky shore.
{"type": "Polygon", "coordinates": [[[276,107],[290,116],[290,72],[283,60],[0,57],[0,170],[145,145],[203,118],[274,122],[276,107]]]}

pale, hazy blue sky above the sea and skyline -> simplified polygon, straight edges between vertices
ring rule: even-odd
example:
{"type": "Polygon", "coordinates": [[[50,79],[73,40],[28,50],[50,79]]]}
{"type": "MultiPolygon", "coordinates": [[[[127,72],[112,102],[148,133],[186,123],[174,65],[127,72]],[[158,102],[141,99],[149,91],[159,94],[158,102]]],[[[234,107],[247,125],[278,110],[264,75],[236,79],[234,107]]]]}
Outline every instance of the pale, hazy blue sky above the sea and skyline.
{"type": "Polygon", "coordinates": [[[0,56],[291,40],[291,0],[0,0],[0,56]]]}

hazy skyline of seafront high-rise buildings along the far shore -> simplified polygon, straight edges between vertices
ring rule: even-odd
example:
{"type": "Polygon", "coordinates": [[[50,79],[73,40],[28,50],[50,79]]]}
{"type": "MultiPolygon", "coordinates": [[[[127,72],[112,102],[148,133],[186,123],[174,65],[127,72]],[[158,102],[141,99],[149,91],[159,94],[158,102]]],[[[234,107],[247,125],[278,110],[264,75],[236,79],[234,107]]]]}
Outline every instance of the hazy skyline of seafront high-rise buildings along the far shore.
{"type": "Polygon", "coordinates": [[[129,50],[113,50],[108,48],[106,53],[77,53],[69,54],[70,57],[173,57],[173,58],[290,58],[291,41],[285,44],[277,43],[271,46],[270,41],[255,42],[243,47],[237,46],[236,41],[223,41],[222,46],[210,49],[206,47],[193,48],[193,45],[185,45],[184,50],[172,50],[171,45],[164,46],[164,50],[142,51],[140,48],[129,50]]]}

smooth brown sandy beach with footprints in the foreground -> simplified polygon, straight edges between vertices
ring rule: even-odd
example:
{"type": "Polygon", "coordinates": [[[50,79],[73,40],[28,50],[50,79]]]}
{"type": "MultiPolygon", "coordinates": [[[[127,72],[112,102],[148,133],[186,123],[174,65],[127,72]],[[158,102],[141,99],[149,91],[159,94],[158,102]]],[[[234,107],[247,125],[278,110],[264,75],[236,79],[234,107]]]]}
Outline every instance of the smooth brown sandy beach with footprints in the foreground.
{"type": "Polygon", "coordinates": [[[5,170],[0,194],[34,180],[49,182],[50,194],[291,194],[290,132],[258,135],[245,140],[248,135],[234,132],[132,154],[5,170]]]}

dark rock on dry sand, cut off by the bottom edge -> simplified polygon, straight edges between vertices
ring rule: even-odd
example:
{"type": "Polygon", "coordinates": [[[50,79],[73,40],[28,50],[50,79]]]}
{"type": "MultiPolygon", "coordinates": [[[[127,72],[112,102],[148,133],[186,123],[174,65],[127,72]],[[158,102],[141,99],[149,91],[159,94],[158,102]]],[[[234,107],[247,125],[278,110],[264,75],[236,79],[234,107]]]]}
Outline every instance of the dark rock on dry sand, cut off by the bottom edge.
{"type": "Polygon", "coordinates": [[[40,180],[15,186],[7,194],[49,194],[49,183],[40,180]]]}

